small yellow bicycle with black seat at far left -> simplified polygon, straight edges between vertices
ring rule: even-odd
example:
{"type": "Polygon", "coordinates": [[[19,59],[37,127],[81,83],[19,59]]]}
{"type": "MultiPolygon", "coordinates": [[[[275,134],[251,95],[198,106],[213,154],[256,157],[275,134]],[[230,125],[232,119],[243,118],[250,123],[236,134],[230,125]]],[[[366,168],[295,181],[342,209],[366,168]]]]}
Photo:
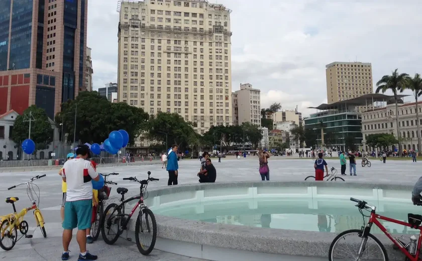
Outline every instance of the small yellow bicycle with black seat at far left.
{"type": "Polygon", "coordinates": [[[44,227],[44,218],[41,214],[40,209],[38,209],[37,201],[34,199],[34,195],[32,192],[35,193],[35,195],[38,198],[38,204],[40,203],[40,188],[36,184],[33,184],[34,180],[40,179],[42,177],[45,177],[46,175],[38,175],[36,177],[33,177],[28,182],[21,183],[19,185],[13,186],[8,188],[8,190],[11,190],[13,188],[16,188],[20,185],[26,185],[27,186],[27,194],[29,197],[29,200],[32,202],[32,206],[28,208],[24,208],[21,210],[21,212],[16,212],[15,202],[19,200],[18,197],[8,197],[6,198],[6,203],[10,203],[13,206],[14,213],[11,213],[6,216],[1,217],[1,225],[0,225],[0,247],[2,247],[4,250],[11,250],[17,241],[19,241],[23,236],[26,238],[32,238],[32,235],[28,235],[29,225],[28,222],[24,220],[24,216],[28,213],[30,210],[34,210],[34,217],[35,221],[37,222],[37,226],[40,227],[41,232],[44,237],[47,237],[47,232],[45,231],[44,227]],[[34,185],[38,188],[38,194],[34,190],[34,185]],[[21,237],[18,238],[18,230],[22,234],[21,237]],[[5,244],[6,241],[10,241],[10,244],[5,244]]]}

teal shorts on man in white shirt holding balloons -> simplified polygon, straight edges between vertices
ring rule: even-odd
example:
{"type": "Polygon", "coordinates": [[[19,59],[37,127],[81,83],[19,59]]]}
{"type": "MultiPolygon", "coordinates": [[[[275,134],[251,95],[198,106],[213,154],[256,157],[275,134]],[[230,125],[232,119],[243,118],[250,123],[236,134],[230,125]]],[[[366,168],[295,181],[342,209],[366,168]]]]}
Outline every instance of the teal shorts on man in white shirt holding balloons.
{"type": "Polygon", "coordinates": [[[79,230],[91,227],[92,199],[66,201],[64,206],[63,229],[78,228],[79,230]]]}

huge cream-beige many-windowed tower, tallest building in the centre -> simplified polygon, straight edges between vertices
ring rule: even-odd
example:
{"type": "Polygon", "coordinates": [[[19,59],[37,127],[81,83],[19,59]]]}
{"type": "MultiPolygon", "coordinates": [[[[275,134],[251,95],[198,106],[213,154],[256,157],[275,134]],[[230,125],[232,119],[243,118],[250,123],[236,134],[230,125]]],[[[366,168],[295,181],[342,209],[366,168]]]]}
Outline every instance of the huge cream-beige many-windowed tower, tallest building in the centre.
{"type": "Polygon", "coordinates": [[[152,115],[179,113],[201,134],[232,124],[231,10],[202,0],[123,0],[118,11],[119,101],[152,115]]]}

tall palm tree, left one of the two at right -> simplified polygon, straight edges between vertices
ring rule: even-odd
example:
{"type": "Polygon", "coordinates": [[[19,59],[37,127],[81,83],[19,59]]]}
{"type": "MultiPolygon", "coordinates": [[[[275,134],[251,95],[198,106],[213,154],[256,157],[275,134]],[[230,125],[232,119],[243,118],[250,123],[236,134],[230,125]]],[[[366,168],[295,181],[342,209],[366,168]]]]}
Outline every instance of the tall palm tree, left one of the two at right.
{"type": "MultiPolygon", "coordinates": [[[[384,75],[382,76],[381,80],[377,82],[377,89],[375,93],[382,93],[386,92],[387,90],[391,90],[394,94],[394,101],[395,101],[395,114],[396,114],[396,131],[397,131],[397,138],[401,138],[400,134],[400,127],[398,125],[398,98],[397,92],[402,92],[407,86],[407,73],[399,74],[397,72],[398,69],[395,69],[391,75],[384,75]]],[[[398,144],[398,155],[401,157],[401,144],[398,144]]]]}

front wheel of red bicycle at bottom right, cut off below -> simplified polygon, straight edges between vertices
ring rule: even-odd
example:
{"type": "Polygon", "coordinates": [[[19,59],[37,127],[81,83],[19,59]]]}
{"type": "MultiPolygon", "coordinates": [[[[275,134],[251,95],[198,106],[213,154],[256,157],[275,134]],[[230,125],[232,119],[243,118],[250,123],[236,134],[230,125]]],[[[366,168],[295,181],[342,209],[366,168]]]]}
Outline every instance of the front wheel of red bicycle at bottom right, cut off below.
{"type": "MultiPolygon", "coordinates": [[[[361,230],[359,229],[346,230],[338,234],[330,245],[328,252],[329,260],[356,260],[356,255],[362,242],[362,237],[359,236],[360,234],[361,230]],[[346,241],[346,237],[348,236],[349,241],[346,241]]],[[[385,247],[378,238],[368,233],[368,238],[359,260],[388,261],[388,256],[385,247]]]]}

